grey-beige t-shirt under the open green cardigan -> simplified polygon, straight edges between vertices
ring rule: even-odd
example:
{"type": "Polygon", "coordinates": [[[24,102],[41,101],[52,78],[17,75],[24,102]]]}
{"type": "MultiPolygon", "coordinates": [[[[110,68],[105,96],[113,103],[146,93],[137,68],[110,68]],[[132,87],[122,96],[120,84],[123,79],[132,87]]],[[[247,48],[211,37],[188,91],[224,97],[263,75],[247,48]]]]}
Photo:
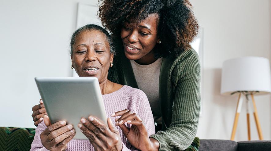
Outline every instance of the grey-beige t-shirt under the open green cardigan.
{"type": "Polygon", "coordinates": [[[163,58],[159,58],[148,65],[140,65],[134,60],[130,60],[138,88],[146,93],[154,116],[154,122],[158,124],[162,124],[159,100],[159,77],[162,60],[163,58]]]}

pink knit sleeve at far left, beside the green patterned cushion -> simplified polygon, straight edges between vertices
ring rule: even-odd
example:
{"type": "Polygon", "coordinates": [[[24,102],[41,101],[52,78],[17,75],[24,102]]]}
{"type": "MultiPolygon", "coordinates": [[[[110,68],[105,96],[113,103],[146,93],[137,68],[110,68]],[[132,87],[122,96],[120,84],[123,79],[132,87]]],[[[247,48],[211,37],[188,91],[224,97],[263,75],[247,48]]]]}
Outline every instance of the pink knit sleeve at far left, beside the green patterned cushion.
{"type": "Polygon", "coordinates": [[[30,151],[48,151],[41,143],[40,134],[43,132],[47,127],[45,126],[44,122],[42,121],[38,127],[36,128],[36,133],[34,136],[34,140],[31,144],[30,151]]]}

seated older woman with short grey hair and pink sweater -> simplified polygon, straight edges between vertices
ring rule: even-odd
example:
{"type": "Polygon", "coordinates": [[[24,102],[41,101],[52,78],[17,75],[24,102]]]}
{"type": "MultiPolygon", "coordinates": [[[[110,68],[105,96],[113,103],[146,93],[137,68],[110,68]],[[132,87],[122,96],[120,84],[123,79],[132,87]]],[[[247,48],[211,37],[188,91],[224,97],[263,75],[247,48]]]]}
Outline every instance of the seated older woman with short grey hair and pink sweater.
{"type": "Polygon", "coordinates": [[[89,140],[75,140],[72,139],[76,133],[72,125],[65,121],[50,124],[45,115],[44,122],[36,128],[31,150],[130,150],[134,149],[134,144],[131,145],[124,135],[137,135],[138,127],[143,127],[148,136],[154,134],[154,121],[145,93],[107,79],[114,54],[108,32],[97,25],[86,25],[73,33],[70,46],[72,69],[80,77],[97,77],[107,115],[125,110],[125,116],[121,117],[125,121],[116,123],[116,117],[112,117],[113,122],[108,118],[107,128],[95,117],[82,118],[78,127],[89,140]],[[114,124],[123,124],[128,131],[122,132],[114,124]]]}

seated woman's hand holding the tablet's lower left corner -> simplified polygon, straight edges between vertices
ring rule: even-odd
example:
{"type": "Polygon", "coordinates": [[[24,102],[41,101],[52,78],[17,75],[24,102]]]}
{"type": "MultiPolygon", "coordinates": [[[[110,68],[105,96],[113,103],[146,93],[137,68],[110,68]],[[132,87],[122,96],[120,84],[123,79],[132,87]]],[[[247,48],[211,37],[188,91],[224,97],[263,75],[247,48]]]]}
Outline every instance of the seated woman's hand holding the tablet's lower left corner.
{"type": "Polygon", "coordinates": [[[51,151],[67,149],[67,144],[75,136],[76,132],[71,124],[62,120],[50,125],[49,117],[44,116],[44,123],[48,126],[41,134],[42,145],[51,151]]]}

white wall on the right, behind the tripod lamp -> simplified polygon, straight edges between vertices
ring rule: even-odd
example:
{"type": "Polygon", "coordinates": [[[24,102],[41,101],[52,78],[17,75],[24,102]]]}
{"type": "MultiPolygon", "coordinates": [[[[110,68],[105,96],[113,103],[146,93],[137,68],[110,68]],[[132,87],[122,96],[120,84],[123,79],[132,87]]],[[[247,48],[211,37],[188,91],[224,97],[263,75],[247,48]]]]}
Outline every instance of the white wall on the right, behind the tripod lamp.
{"type": "MultiPolygon", "coordinates": [[[[204,28],[203,115],[197,136],[206,139],[230,139],[237,95],[220,95],[223,61],[241,56],[271,59],[270,0],[190,0],[204,28]]],[[[270,96],[255,96],[264,139],[271,139],[270,96]]],[[[251,115],[251,139],[258,133],[251,115]]],[[[235,140],[247,140],[245,104],[239,116],[235,140]]]]}

